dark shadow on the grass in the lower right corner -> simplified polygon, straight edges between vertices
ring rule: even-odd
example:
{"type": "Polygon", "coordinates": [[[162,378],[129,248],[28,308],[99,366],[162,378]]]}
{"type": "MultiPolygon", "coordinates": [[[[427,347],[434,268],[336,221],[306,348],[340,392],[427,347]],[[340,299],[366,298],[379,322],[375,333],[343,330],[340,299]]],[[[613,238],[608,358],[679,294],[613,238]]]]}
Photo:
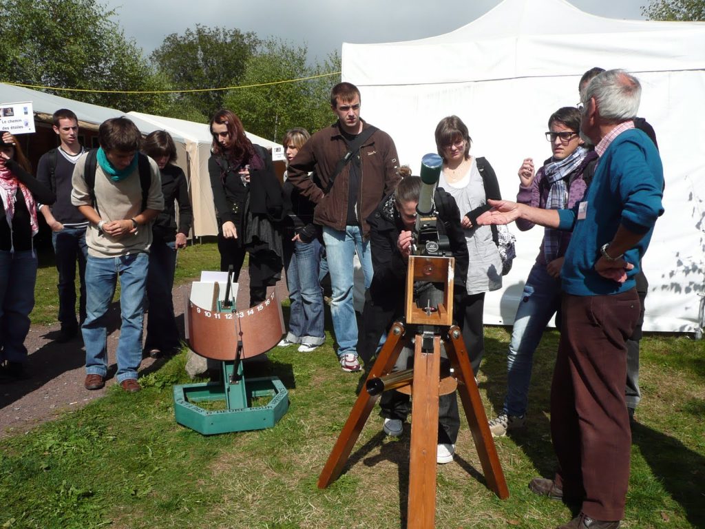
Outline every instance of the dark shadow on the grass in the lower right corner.
{"type": "MultiPolygon", "coordinates": [[[[692,420],[699,418],[695,416],[692,420]]],[[[678,439],[639,423],[632,425],[632,444],[639,446],[651,473],[682,506],[689,523],[695,528],[705,527],[705,456],[678,439]]],[[[635,494],[637,491],[630,492],[632,497],[635,494]]]]}

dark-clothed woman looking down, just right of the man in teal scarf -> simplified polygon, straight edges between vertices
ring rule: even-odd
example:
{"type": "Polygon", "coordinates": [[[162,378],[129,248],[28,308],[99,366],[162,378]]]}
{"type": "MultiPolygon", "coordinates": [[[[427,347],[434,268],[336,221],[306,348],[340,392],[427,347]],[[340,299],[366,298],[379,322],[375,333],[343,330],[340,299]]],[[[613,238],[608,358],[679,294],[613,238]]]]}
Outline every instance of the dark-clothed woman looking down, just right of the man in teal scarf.
{"type": "Polygon", "coordinates": [[[161,174],[161,193],[164,195],[164,211],[152,224],[147,272],[149,317],[145,350],[152,358],[158,358],[162,353],[173,353],[180,348],[171,288],[176,270],[176,250],[186,248],[193,213],[186,176],[180,167],[173,164],[176,161],[176,145],[171,135],[166,130],[149,133],[142,143],[142,152],[157,162],[161,174]]]}

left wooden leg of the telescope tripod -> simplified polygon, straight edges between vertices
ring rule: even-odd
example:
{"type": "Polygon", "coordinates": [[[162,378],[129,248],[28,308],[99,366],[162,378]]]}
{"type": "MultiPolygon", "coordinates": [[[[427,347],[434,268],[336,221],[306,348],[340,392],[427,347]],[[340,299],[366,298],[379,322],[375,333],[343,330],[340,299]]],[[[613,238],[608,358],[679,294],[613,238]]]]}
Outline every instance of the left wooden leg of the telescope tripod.
{"type": "MultiPolygon", "coordinates": [[[[381,351],[379,351],[379,356],[372,366],[372,370],[369,372],[368,380],[383,377],[391,372],[403,346],[403,342],[401,341],[403,336],[404,325],[400,322],[395,322],[389,332],[387,341],[384,343],[384,346],[382,346],[381,351]]],[[[328,456],[326,466],[321,470],[321,475],[319,475],[318,478],[319,489],[328,487],[331,482],[338,479],[338,476],[341,475],[343,467],[348,461],[348,457],[350,457],[350,452],[353,451],[353,446],[355,446],[357,438],[360,437],[364,423],[367,422],[369,414],[372,412],[372,408],[374,408],[374,403],[378,398],[379,395],[372,396],[367,393],[364,386],[360,390],[353,410],[350,411],[348,420],[345,421],[343,430],[341,430],[340,435],[338,435],[338,440],[333,446],[331,455],[328,456]]]]}

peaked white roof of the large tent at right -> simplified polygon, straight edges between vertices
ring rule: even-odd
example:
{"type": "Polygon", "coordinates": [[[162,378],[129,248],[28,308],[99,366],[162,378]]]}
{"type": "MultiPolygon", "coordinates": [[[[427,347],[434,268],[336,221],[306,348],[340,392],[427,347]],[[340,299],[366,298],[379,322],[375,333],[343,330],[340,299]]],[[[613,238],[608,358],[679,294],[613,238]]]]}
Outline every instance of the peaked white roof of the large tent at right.
{"type": "Polygon", "coordinates": [[[700,69],[704,30],[700,22],[602,18],[564,0],[505,0],[445,35],[343,44],[343,79],[366,86],[582,75],[605,54],[631,71],[700,69]]]}

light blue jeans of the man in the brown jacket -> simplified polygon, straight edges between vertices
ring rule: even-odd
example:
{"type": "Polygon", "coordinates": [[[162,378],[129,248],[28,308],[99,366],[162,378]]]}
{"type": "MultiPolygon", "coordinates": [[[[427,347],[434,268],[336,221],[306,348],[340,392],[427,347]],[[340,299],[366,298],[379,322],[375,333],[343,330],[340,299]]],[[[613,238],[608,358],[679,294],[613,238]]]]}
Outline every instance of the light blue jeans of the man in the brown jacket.
{"type": "Polygon", "coordinates": [[[360,226],[346,226],[338,231],[323,226],[328,267],[331,274],[331,317],[338,342],[338,356],[352,353],[357,356],[357,320],[353,307],[353,256],[362,263],[364,288],[372,283],[372,254],[369,241],[362,240],[360,226]]]}

